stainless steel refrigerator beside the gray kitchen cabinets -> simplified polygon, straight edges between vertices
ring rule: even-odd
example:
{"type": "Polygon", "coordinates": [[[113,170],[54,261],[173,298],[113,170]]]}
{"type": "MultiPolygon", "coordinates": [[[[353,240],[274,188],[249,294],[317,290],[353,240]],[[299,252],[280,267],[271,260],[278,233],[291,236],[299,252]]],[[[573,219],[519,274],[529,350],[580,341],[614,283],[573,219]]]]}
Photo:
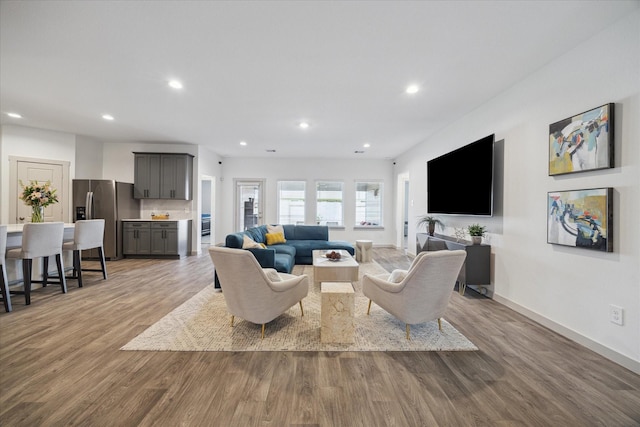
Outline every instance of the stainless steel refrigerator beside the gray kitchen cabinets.
{"type": "MultiPolygon", "coordinates": [[[[73,180],[73,222],[104,219],[104,256],[122,258],[122,220],[140,218],[140,200],[133,198],[133,184],[110,179],[73,180]]],[[[83,251],[83,258],[97,258],[98,250],[83,251]]]]}

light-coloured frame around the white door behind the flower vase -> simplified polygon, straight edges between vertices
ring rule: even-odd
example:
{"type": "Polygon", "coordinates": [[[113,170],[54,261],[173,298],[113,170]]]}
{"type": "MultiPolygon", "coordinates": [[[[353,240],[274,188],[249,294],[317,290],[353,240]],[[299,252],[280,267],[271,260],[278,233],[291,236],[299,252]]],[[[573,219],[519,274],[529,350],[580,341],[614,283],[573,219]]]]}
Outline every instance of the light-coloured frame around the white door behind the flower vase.
{"type": "Polygon", "coordinates": [[[71,222],[71,180],[69,170],[71,162],[64,160],[36,159],[33,157],[9,156],[9,223],[17,224],[18,218],[18,162],[42,163],[62,167],[62,185],[57,189],[58,200],[62,207],[63,222],[71,222]]]}

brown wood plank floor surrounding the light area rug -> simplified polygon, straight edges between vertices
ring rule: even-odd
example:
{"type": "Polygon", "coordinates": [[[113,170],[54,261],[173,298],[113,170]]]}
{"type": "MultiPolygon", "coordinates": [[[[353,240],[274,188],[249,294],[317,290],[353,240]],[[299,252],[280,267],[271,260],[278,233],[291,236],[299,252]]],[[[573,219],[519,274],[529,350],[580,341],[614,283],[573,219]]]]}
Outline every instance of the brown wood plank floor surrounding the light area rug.
{"type": "Polygon", "coordinates": [[[640,425],[640,376],[473,291],[446,319],[476,352],[132,352],[213,266],[204,252],[107,268],[0,314],[0,425],[640,425]]]}

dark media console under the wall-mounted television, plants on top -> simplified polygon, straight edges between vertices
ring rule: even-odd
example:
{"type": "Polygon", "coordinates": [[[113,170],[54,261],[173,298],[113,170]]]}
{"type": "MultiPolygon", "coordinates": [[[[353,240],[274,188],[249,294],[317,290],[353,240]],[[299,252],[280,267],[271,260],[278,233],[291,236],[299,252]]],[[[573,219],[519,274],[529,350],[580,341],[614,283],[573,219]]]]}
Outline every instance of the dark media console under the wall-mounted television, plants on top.
{"type": "Polygon", "coordinates": [[[458,292],[464,295],[467,285],[480,286],[480,292],[485,293],[483,285],[491,284],[491,246],[474,245],[471,242],[457,241],[448,236],[429,236],[427,233],[416,234],[416,255],[424,251],[458,250],[467,251],[460,274],[458,275],[458,292]]]}

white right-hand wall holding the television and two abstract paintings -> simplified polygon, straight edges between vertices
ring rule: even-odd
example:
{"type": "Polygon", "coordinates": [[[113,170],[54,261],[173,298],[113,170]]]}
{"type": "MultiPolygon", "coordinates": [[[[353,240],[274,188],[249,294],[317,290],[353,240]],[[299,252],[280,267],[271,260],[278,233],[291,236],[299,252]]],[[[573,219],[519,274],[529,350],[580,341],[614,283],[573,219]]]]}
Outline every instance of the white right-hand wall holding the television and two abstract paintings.
{"type": "MultiPolygon", "coordinates": [[[[503,213],[488,225],[494,298],[640,372],[640,11],[403,154],[409,217],[426,208],[426,161],[491,133],[504,139],[503,213]],[[615,103],[615,168],[548,176],[549,124],[615,103]],[[546,243],[547,192],[613,187],[614,252],[546,243]],[[624,325],[609,305],[624,308],[624,325]]],[[[460,179],[466,179],[460,171],[460,179]]],[[[447,218],[444,218],[445,222],[447,218]]],[[[415,227],[409,223],[409,239],[415,227]]],[[[451,233],[451,229],[447,230],[451,233]]],[[[412,245],[409,245],[409,249],[412,245]]],[[[499,331],[500,325],[495,325],[499,331]]],[[[579,361],[576,361],[579,363],[579,361]]]]}

